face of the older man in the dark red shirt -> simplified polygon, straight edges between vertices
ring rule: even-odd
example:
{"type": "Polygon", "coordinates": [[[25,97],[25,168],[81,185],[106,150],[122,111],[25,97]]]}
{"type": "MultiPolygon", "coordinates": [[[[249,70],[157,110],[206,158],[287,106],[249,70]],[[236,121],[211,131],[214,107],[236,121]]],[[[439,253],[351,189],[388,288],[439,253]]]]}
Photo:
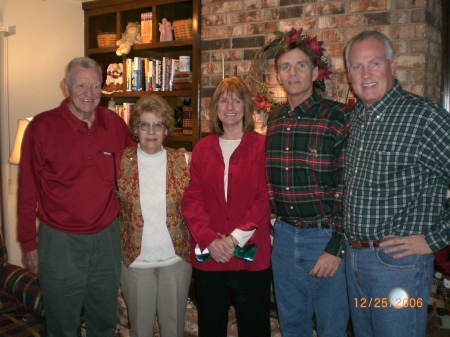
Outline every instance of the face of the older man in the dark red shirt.
{"type": "Polygon", "coordinates": [[[79,64],[71,71],[69,79],[63,81],[69,95],[69,109],[80,119],[95,115],[100,103],[102,79],[96,68],[84,68],[79,64]]]}

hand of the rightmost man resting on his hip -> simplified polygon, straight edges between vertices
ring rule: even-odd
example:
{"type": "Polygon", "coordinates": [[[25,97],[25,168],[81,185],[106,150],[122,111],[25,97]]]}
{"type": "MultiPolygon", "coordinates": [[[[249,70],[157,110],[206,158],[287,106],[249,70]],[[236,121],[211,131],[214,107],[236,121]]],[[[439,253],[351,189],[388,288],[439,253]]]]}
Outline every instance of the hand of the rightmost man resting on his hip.
{"type": "Polygon", "coordinates": [[[381,247],[389,247],[385,250],[385,253],[397,253],[394,254],[394,259],[401,259],[410,255],[426,255],[431,254],[433,251],[428,247],[427,241],[423,234],[405,236],[403,238],[396,238],[394,235],[388,235],[383,238],[380,243],[381,247]]]}

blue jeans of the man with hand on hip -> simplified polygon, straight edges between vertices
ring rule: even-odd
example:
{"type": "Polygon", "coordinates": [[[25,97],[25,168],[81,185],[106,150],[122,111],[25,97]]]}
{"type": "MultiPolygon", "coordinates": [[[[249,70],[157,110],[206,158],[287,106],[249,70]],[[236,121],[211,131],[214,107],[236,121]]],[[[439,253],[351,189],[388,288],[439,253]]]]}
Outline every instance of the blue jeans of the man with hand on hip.
{"type": "Polygon", "coordinates": [[[347,245],[347,284],[356,337],[423,337],[433,254],[394,259],[386,248],[347,245]]]}

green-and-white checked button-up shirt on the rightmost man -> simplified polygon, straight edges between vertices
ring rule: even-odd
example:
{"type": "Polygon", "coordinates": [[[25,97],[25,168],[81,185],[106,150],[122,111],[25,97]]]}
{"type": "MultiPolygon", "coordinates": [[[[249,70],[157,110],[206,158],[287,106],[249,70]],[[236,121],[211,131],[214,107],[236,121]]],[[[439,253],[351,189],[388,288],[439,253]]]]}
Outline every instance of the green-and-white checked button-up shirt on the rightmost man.
{"type": "Polygon", "coordinates": [[[424,234],[436,251],[449,245],[450,114],[398,81],[350,120],[345,162],[344,230],[349,238],[424,234]]]}

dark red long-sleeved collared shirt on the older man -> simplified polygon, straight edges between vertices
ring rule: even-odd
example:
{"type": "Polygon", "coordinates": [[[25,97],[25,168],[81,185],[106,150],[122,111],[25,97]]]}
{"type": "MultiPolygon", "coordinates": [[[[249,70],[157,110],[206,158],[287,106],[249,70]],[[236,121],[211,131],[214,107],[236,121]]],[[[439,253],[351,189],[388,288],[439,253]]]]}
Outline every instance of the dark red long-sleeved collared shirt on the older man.
{"type": "Polygon", "coordinates": [[[92,234],[118,215],[116,170],[125,147],[135,145],[125,122],[97,107],[90,128],[67,107],[43,112],[28,125],[19,169],[18,239],[22,250],[36,249],[36,216],[50,227],[92,234]]]}

